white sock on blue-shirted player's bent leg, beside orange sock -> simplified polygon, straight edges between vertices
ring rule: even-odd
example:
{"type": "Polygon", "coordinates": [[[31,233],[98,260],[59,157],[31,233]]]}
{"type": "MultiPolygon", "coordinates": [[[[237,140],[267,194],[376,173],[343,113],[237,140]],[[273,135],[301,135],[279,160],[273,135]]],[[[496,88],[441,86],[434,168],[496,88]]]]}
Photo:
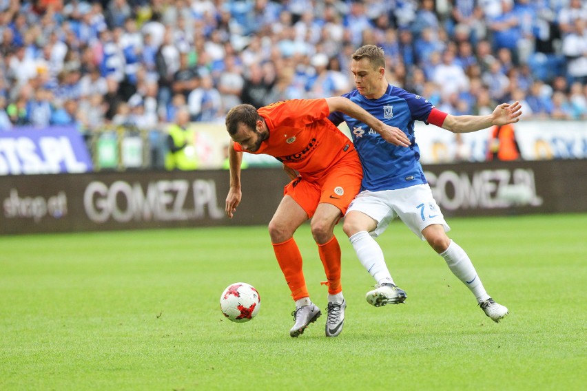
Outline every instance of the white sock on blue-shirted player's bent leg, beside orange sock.
{"type": "Polygon", "coordinates": [[[360,231],[349,237],[349,240],[359,261],[378,284],[391,283],[395,285],[387,269],[387,264],[385,264],[381,247],[367,231],[360,231]]]}

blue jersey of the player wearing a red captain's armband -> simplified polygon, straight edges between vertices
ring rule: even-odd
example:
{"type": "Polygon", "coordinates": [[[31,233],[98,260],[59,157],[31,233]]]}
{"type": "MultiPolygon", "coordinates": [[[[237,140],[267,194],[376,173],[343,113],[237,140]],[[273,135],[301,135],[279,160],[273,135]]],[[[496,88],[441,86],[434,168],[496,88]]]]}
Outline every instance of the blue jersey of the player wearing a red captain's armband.
{"type": "MultiPolygon", "coordinates": [[[[414,121],[426,122],[433,109],[422,96],[389,85],[379,99],[367,99],[355,89],[343,95],[387,125],[402,129],[411,141],[410,147],[397,147],[385,141],[369,126],[342,112],[333,112],[334,125],[346,121],[363,166],[362,190],[403,189],[426,183],[420,165],[420,149],[415,142],[414,121]]],[[[427,122],[426,122],[427,123],[427,122]]]]}

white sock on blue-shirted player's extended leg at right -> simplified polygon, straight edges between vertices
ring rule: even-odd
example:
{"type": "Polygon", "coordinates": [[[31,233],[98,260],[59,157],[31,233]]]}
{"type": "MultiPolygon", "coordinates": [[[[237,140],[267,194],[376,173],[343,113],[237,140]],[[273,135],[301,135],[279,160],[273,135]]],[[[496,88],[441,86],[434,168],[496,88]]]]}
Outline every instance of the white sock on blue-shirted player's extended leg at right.
{"type": "Polygon", "coordinates": [[[473,295],[477,297],[477,302],[481,303],[489,298],[489,295],[483,287],[481,278],[477,275],[477,271],[475,271],[475,266],[473,266],[468,255],[466,255],[465,251],[458,244],[451,240],[449,248],[444,253],[441,253],[440,256],[444,258],[453,274],[473,292],[473,295]]]}

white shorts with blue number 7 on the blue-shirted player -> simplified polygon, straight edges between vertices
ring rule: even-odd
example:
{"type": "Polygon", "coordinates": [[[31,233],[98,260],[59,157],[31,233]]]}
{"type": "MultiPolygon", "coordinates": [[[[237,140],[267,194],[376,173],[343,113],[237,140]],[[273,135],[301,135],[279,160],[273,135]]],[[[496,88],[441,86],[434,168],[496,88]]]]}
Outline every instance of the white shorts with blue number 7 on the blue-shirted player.
{"type": "Polygon", "coordinates": [[[422,230],[426,226],[440,224],[444,226],[444,232],[451,230],[428,184],[397,190],[361,191],[349,205],[347,213],[350,211],[360,211],[378,223],[377,228],[370,232],[373,237],[381,235],[391,220],[397,217],[422,240],[425,240],[422,230]]]}

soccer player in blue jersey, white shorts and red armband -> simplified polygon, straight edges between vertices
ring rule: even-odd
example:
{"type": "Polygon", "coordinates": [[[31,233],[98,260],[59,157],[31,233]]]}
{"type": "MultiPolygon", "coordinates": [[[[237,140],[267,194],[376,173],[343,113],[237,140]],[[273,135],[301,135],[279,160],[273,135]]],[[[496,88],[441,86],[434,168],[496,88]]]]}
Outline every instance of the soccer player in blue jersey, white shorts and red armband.
{"type": "Polygon", "coordinates": [[[346,121],[363,167],[361,192],[351,202],[343,230],[357,256],[377,285],[367,293],[373,306],[399,304],[404,290],[393,282],[383,252],[373,237],[380,235],[394,218],[400,218],[411,231],[426,240],[458,279],[471,290],[488,317],[499,322],[508,308],[497,304],[486,292],[465,251],[446,232],[446,224],[420,165],[420,149],[415,142],[414,121],[442,127],[453,133],[466,133],[493,125],[517,123],[518,102],[503,103],[487,116],[453,116],[436,109],[422,96],[387,83],[385,57],[380,47],[365,45],[352,56],[351,72],[357,89],[344,94],[354,103],[391,127],[404,131],[409,148],[386,142],[377,131],[340,112],[329,118],[335,125],[346,121]]]}

